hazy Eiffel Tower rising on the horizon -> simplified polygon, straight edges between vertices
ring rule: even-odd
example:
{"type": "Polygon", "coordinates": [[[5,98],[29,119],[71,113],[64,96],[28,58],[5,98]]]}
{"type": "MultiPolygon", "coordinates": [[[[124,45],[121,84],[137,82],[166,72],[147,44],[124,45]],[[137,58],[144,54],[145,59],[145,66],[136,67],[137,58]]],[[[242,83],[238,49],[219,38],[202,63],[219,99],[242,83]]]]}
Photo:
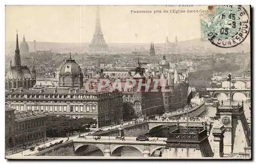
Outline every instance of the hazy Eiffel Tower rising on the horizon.
{"type": "Polygon", "coordinates": [[[105,53],[108,51],[108,44],[106,44],[101,30],[99,6],[97,6],[95,30],[91,44],[89,44],[89,50],[91,53],[105,53]]]}

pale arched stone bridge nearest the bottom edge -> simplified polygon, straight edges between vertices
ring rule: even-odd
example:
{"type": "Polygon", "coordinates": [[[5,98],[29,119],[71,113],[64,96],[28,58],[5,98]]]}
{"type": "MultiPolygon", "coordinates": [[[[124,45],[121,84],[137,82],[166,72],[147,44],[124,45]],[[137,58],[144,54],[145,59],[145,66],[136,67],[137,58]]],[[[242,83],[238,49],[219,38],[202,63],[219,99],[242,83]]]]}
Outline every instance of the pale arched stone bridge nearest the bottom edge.
{"type": "Polygon", "coordinates": [[[120,147],[133,147],[137,149],[141,156],[152,156],[156,150],[165,148],[167,138],[150,137],[148,141],[137,141],[136,137],[125,137],[125,140],[116,139],[113,136],[101,136],[100,140],[93,139],[93,136],[87,138],[73,139],[74,151],[86,149],[86,146],[93,146],[99,149],[104,156],[112,156],[113,152],[120,147]]]}

